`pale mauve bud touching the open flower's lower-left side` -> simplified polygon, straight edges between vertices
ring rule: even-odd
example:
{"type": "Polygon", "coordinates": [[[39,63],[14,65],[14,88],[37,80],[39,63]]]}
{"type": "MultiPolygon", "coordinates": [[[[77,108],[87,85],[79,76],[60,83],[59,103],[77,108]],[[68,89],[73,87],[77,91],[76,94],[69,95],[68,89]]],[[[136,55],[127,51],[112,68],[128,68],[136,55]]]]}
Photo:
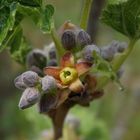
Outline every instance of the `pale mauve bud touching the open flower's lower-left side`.
{"type": "Polygon", "coordinates": [[[41,80],[42,90],[45,93],[55,93],[57,89],[56,81],[52,76],[45,76],[41,80]]]}

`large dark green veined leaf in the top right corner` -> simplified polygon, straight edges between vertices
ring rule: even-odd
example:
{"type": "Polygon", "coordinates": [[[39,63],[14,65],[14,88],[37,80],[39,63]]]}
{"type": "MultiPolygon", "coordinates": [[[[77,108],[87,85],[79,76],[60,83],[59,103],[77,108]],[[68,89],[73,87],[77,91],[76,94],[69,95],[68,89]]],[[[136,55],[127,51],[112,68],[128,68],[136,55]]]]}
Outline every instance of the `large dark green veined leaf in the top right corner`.
{"type": "Polygon", "coordinates": [[[140,0],[109,4],[101,20],[129,38],[140,38],[140,0]]]}

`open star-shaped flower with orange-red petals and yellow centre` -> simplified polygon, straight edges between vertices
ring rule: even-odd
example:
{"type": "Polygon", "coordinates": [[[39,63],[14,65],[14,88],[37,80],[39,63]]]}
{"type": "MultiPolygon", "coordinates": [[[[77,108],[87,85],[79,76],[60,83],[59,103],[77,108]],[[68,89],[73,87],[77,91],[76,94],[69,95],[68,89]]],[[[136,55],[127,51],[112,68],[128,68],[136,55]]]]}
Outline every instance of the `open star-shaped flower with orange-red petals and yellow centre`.
{"type": "Polygon", "coordinates": [[[74,63],[74,56],[67,52],[61,59],[60,67],[46,67],[44,73],[53,76],[60,88],[69,88],[71,91],[80,93],[84,85],[80,81],[80,76],[89,71],[89,62],[74,63]]]}

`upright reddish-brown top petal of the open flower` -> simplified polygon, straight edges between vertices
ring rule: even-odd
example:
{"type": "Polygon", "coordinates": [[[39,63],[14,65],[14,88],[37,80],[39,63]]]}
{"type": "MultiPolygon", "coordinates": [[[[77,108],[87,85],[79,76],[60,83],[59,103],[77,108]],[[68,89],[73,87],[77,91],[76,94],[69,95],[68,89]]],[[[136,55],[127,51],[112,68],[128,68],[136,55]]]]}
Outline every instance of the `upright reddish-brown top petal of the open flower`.
{"type": "Polygon", "coordinates": [[[66,52],[61,59],[62,67],[74,67],[74,56],[71,52],[66,52]]]}

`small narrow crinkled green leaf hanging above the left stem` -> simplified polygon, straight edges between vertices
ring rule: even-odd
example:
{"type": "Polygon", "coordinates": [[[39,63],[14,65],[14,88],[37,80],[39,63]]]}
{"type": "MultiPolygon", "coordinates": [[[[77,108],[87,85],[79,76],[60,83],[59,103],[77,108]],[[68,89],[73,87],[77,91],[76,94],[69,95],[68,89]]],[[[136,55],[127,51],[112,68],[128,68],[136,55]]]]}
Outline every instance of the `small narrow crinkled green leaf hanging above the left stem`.
{"type": "Polygon", "coordinates": [[[42,11],[41,29],[44,33],[50,32],[53,26],[52,16],[54,14],[54,7],[52,5],[46,5],[42,11]]]}

